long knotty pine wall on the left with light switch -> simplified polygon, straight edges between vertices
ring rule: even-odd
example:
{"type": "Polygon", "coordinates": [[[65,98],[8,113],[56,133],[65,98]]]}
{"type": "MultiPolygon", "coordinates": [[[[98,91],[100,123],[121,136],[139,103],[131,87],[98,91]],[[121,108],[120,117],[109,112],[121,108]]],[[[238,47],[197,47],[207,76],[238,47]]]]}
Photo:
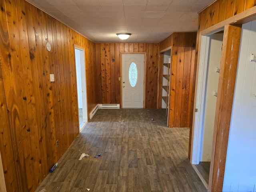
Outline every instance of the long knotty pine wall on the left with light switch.
{"type": "Polygon", "coordinates": [[[74,44],[85,50],[88,112],[97,103],[95,44],[24,0],[0,0],[0,7],[6,188],[34,191],[79,133],[74,44]]]}

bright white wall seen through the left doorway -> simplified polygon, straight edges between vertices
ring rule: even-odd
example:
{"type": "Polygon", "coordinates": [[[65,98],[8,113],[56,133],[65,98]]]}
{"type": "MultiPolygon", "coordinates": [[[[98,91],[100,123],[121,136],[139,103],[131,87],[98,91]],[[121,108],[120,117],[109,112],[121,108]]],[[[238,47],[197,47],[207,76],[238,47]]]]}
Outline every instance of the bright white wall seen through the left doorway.
{"type": "Polygon", "coordinates": [[[76,56],[76,82],[77,82],[77,92],[78,92],[78,108],[83,108],[82,103],[82,83],[81,83],[81,64],[80,64],[80,50],[75,49],[76,56]]]}

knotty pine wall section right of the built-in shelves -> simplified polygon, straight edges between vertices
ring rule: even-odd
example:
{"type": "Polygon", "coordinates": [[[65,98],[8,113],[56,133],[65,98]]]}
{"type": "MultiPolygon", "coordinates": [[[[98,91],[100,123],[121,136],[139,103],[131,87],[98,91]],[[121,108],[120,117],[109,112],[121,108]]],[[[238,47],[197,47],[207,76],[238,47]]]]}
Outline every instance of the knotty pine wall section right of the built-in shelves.
{"type": "MultiPolygon", "coordinates": [[[[191,128],[194,105],[196,32],[173,33],[160,43],[161,50],[170,46],[172,46],[172,65],[169,127],[191,128]]],[[[162,70],[161,64],[159,70],[162,70]]],[[[159,96],[161,96],[161,93],[159,96]]]]}

